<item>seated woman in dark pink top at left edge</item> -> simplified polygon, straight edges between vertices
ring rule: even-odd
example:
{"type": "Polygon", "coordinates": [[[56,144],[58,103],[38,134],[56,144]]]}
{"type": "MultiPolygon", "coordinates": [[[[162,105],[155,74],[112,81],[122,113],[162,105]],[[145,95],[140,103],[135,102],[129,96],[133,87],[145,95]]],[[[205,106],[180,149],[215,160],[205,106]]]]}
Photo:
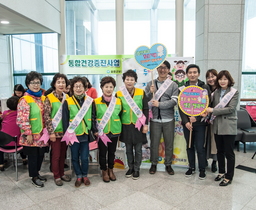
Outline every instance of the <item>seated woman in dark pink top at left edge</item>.
{"type": "MultiPolygon", "coordinates": [[[[17,96],[12,96],[6,102],[7,107],[10,110],[4,111],[2,115],[2,129],[1,131],[7,133],[11,136],[17,136],[18,139],[20,138],[20,128],[16,124],[17,119],[17,105],[19,102],[19,98],[17,96]]],[[[11,142],[6,146],[2,147],[5,149],[14,149],[15,143],[11,142]]],[[[22,157],[23,164],[27,164],[26,155],[20,153],[22,157]]],[[[4,153],[0,151],[0,170],[4,171],[4,153]]]]}

